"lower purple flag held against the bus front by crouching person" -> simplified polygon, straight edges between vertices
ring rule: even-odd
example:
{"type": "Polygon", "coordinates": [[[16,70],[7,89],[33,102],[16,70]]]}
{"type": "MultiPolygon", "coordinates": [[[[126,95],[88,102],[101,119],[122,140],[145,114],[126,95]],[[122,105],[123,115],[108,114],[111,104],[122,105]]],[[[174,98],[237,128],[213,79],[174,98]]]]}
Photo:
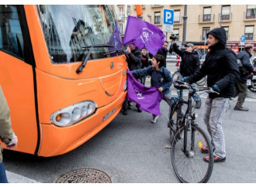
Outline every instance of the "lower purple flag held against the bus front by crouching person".
{"type": "Polygon", "coordinates": [[[139,83],[130,70],[127,70],[126,98],[137,103],[140,110],[154,115],[161,115],[160,102],[163,94],[158,91],[158,87],[145,87],[142,83],[139,83]]]}

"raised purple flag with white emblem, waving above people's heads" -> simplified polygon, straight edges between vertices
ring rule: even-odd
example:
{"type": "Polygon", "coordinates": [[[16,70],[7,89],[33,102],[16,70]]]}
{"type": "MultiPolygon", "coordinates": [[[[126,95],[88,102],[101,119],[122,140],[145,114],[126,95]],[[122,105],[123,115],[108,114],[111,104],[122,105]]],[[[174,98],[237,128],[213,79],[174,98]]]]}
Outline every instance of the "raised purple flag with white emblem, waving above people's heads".
{"type": "Polygon", "coordinates": [[[164,33],[157,26],[133,16],[128,17],[123,45],[134,44],[137,48],[146,48],[155,55],[164,44],[164,33]]]}

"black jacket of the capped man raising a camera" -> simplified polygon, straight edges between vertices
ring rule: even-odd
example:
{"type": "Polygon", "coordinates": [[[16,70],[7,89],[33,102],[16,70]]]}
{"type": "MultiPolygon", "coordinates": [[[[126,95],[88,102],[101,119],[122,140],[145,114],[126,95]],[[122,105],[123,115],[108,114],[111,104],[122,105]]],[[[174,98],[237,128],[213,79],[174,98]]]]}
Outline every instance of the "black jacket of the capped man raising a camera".
{"type": "Polygon", "coordinates": [[[182,62],[180,63],[180,73],[182,76],[191,76],[193,73],[199,71],[200,67],[200,60],[197,52],[182,52],[180,49],[178,49],[178,46],[176,43],[173,44],[173,49],[175,53],[177,53],[179,56],[182,57],[182,62]]]}

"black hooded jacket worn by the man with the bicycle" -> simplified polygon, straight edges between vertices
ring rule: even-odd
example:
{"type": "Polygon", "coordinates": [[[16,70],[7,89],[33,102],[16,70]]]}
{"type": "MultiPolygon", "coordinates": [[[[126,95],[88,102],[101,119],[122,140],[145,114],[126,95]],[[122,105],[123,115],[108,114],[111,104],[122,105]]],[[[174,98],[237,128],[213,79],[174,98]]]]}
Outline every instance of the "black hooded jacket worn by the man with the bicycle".
{"type": "Polygon", "coordinates": [[[223,28],[215,28],[207,33],[212,34],[220,41],[209,46],[209,52],[206,54],[206,60],[202,63],[199,72],[194,73],[186,80],[194,83],[203,76],[207,75],[208,87],[218,85],[220,95],[209,93],[209,98],[234,97],[234,83],[237,81],[240,73],[237,66],[237,56],[233,50],[226,48],[227,36],[223,28]]]}

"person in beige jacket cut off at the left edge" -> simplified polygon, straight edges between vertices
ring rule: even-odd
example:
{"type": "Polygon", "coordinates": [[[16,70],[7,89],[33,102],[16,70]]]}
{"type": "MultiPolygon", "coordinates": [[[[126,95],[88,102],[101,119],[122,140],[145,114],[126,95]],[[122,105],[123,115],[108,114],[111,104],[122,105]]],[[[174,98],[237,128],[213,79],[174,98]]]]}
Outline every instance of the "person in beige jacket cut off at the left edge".
{"type": "MultiPolygon", "coordinates": [[[[0,140],[5,143],[7,148],[15,148],[18,138],[11,128],[11,118],[5,95],[0,86],[0,140]]],[[[2,147],[0,145],[0,183],[8,183],[5,173],[5,165],[2,162],[2,147]]]]}

